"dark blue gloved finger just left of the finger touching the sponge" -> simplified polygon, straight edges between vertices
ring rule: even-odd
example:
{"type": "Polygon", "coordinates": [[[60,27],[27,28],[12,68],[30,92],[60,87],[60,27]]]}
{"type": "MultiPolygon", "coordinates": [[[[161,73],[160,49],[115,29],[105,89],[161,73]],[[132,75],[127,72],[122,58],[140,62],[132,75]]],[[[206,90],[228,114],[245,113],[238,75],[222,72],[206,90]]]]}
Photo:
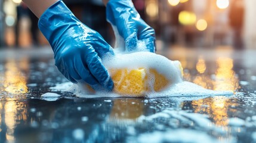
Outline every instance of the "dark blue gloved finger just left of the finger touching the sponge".
{"type": "Polygon", "coordinates": [[[90,73],[90,70],[88,69],[87,65],[84,65],[83,63],[75,63],[75,69],[76,72],[81,76],[82,80],[87,82],[89,85],[94,86],[97,85],[97,79],[95,79],[94,76],[90,73]]]}

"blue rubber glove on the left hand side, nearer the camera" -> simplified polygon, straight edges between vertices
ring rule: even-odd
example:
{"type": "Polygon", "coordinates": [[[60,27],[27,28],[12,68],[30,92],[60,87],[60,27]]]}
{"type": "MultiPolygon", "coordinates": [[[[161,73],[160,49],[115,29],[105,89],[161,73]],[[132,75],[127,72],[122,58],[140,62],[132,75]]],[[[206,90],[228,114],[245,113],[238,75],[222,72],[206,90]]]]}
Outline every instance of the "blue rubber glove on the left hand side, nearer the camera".
{"type": "Polygon", "coordinates": [[[112,90],[112,79],[100,57],[113,54],[113,49],[99,33],[82,24],[62,1],[42,14],[38,26],[53,48],[55,65],[67,79],[112,90]]]}

